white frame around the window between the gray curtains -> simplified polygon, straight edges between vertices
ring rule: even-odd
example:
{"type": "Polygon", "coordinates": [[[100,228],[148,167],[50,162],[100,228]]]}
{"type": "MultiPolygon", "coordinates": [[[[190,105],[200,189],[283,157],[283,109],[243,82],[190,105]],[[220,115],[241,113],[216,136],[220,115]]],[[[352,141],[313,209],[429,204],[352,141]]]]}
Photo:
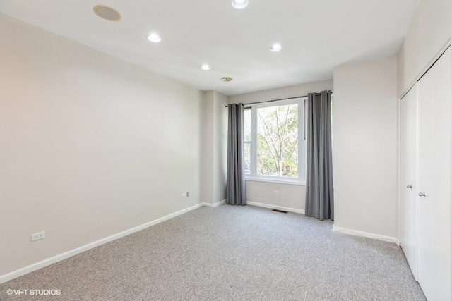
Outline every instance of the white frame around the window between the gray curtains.
{"type": "Polygon", "coordinates": [[[250,174],[245,174],[246,180],[255,180],[270,183],[285,183],[293,185],[306,185],[306,154],[307,137],[305,135],[305,108],[307,97],[297,97],[275,102],[265,102],[261,104],[245,104],[245,109],[251,109],[251,142],[244,141],[244,144],[251,145],[250,174]],[[270,106],[284,106],[287,104],[298,104],[298,178],[288,178],[283,176],[264,176],[257,174],[257,109],[270,106]]]}

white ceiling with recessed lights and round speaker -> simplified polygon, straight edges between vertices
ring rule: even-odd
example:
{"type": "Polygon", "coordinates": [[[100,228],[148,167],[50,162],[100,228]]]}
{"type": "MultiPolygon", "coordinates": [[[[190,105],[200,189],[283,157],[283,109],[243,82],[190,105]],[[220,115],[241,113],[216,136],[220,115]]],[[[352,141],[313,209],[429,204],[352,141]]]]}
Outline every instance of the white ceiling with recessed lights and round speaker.
{"type": "Polygon", "coordinates": [[[200,90],[234,95],[328,80],[334,66],[396,54],[419,2],[249,0],[237,10],[230,0],[0,0],[0,11],[200,90]],[[99,18],[97,4],[122,20],[99,18]],[[149,42],[150,32],[162,42],[149,42]],[[275,42],[283,50],[270,52],[275,42]],[[203,63],[212,69],[201,70],[203,63]]]}

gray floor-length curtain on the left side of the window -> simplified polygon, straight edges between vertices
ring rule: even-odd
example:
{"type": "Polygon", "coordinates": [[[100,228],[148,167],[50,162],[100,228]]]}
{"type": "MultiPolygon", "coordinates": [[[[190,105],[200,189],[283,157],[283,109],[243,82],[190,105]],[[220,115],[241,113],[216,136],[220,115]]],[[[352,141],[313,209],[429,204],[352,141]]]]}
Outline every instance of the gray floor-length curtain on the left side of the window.
{"type": "Polygon", "coordinates": [[[243,104],[227,106],[226,203],[246,205],[243,146],[243,104]]]}

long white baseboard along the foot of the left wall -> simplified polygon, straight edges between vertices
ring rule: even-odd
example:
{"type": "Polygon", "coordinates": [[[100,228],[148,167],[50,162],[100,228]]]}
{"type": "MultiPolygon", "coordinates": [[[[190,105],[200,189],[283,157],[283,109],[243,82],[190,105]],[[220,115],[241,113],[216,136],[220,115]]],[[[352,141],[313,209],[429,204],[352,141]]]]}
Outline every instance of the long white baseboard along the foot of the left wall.
{"type": "MultiPolygon", "coordinates": [[[[216,203],[219,204],[219,203],[216,203]]],[[[215,205],[215,204],[214,204],[215,205]]],[[[126,235],[129,235],[131,233],[135,233],[137,231],[141,231],[145,228],[148,228],[150,226],[154,226],[157,223],[161,223],[162,221],[167,221],[168,219],[172,219],[173,217],[179,216],[181,214],[184,214],[186,212],[189,212],[191,210],[197,209],[199,207],[203,207],[203,203],[201,204],[196,204],[195,206],[174,212],[173,214],[169,214],[167,216],[163,216],[160,219],[155,219],[154,221],[150,221],[148,223],[143,223],[143,225],[140,226],[136,226],[133,228],[130,228],[129,230],[114,234],[114,235],[110,235],[107,238],[102,238],[100,240],[97,240],[95,242],[91,242],[88,245],[83,245],[82,247],[78,247],[76,249],[70,250],[68,252],[64,252],[61,254],[58,254],[54,257],[50,257],[47,259],[44,259],[40,262],[36,262],[35,264],[30,264],[29,266],[25,266],[22,269],[18,269],[16,271],[12,271],[8,274],[4,274],[0,276],[0,284],[1,283],[5,283],[6,281],[10,281],[14,278],[18,278],[20,276],[23,276],[25,274],[28,274],[32,271],[36,271],[38,269],[42,269],[44,266],[49,266],[50,264],[54,264],[55,262],[61,262],[61,260],[67,259],[69,257],[73,257],[76,254],[80,254],[81,252],[85,252],[88,251],[90,249],[93,249],[93,247],[97,247],[100,245],[103,245],[107,242],[111,242],[113,240],[117,240],[118,238],[122,238],[126,235]]]]}

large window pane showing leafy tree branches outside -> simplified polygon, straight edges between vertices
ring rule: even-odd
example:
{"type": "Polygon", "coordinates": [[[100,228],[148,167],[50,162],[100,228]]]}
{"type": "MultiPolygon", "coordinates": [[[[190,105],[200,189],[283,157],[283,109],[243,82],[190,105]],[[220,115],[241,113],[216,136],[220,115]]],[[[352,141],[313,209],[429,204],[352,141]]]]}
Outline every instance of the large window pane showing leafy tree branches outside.
{"type": "Polygon", "coordinates": [[[298,105],[257,109],[257,174],[298,177],[298,105]]]}

